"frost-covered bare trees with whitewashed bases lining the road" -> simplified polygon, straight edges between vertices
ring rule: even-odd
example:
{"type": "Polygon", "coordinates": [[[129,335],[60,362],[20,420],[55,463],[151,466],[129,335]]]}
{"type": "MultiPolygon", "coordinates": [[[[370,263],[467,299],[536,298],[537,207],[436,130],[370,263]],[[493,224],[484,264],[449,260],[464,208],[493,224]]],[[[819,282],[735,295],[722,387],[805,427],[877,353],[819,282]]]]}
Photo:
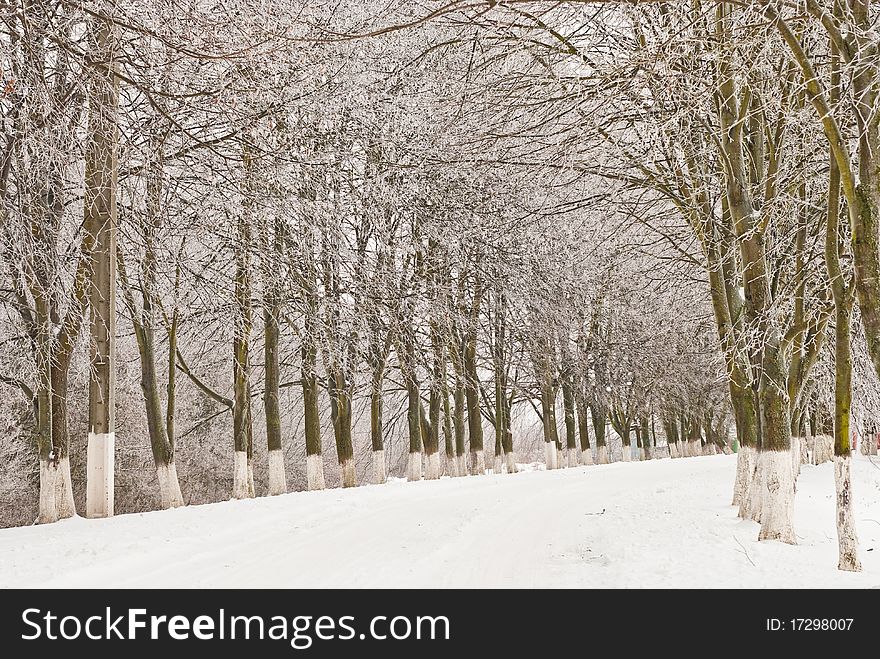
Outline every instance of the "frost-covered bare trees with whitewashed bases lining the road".
{"type": "Polygon", "coordinates": [[[833,453],[860,569],[877,7],[331,4],[0,10],[6,521],[601,463],[610,426],[735,437],[761,540],[833,453]]]}

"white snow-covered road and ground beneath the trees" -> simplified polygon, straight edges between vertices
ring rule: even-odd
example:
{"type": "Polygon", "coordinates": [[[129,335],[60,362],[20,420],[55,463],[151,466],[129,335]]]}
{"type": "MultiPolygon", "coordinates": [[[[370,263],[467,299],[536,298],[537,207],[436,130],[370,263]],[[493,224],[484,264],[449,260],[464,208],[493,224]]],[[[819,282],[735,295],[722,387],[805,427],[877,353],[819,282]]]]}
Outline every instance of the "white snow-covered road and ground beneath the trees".
{"type": "Polygon", "coordinates": [[[789,546],[758,543],[727,505],[735,461],[395,481],[0,530],[0,585],[880,587],[880,461],[853,465],[861,574],[836,569],[830,463],[802,468],[789,546]]]}

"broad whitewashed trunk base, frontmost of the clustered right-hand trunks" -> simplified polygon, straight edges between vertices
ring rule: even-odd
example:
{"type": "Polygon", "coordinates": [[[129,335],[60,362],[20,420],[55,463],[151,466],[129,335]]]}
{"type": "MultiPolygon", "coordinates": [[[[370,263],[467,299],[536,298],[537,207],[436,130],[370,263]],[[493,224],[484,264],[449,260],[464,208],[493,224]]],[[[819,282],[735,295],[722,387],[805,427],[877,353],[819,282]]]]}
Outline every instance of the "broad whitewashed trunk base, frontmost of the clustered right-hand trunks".
{"type": "Polygon", "coordinates": [[[791,451],[761,451],[761,532],[758,540],[779,540],[797,544],[792,517],[794,512],[794,470],[791,451]]]}

